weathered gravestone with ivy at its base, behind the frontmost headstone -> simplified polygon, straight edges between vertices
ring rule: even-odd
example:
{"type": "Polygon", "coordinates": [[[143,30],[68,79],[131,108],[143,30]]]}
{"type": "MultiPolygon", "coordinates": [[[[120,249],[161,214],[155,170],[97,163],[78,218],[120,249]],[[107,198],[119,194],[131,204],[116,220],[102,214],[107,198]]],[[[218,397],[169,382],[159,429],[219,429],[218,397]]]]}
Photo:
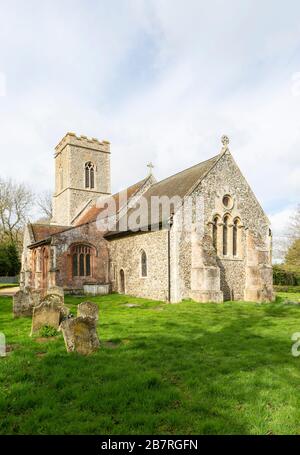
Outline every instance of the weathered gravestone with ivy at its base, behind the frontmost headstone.
{"type": "Polygon", "coordinates": [[[33,309],[31,335],[46,325],[58,329],[59,324],[68,314],[69,309],[64,306],[59,295],[47,295],[40,305],[33,309]]]}

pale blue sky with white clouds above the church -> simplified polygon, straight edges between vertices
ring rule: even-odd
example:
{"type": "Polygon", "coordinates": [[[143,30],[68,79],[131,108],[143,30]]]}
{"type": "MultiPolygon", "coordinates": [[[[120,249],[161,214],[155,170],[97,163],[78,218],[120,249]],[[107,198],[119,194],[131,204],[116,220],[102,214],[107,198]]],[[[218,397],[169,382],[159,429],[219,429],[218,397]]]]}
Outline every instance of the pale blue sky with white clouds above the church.
{"type": "Polygon", "coordinates": [[[119,190],[226,133],[282,229],[300,190],[299,17],[293,0],[0,0],[1,175],[52,188],[74,131],[111,141],[119,190]]]}

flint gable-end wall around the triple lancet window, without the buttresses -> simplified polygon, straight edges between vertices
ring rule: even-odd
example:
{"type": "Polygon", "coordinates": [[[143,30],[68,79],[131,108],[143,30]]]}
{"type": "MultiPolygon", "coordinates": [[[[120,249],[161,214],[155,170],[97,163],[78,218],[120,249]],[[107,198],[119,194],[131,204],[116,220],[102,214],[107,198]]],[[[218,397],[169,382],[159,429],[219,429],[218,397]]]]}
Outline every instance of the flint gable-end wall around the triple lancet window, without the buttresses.
{"type": "MultiPolygon", "coordinates": [[[[213,218],[218,214],[221,218],[229,214],[231,219],[240,218],[243,228],[240,230],[240,254],[235,258],[232,255],[232,241],[230,235],[228,242],[228,255],[223,256],[218,253],[217,263],[220,268],[220,288],[223,292],[224,300],[244,300],[247,288],[247,260],[250,254],[247,247],[247,238],[251,235],[253,243],[251,249],[256,252],[263,249],[267,252],[264,258],[265,265],[271,267],[271,251],[269,239],[269,220],[259,205],[255,195],[249,187],[247,181],[237,167],[233,157],[225,153],[208,175],[195,188],[193,196],[203,197],[204,202],[204,235],[209,236],[212,242],[213,218]],[[223,196],[229,194],[233,199],[233,206],[226,208],[223,206],[223,196]]],[[[222,229],[220,229],[222,232],[222,229]]],[[[174,237],[174,234],[172,234],[174,237]]],[[[179,253],[177,257],[173,255],[176,263],[174,267],[178,270],[177,280],[174,279],[174,287],[177,286],[177,300],[191,296],[192,279],[192,244],[189,233],[181,233],[178,236],[179,253]]],[[[258,261],[254,264],[259,267],[258,261]]],[[[173,283],[172,283],[173,286],[173,283]]],[[[253,300],[260,300],[259,295],[267,287],[264,294],[272,294],[272,277],[264,274],[264,278],[257,285],[259,292],[253,300]],[[264,281],[265,280],[265,281],[264,281]]]]}

